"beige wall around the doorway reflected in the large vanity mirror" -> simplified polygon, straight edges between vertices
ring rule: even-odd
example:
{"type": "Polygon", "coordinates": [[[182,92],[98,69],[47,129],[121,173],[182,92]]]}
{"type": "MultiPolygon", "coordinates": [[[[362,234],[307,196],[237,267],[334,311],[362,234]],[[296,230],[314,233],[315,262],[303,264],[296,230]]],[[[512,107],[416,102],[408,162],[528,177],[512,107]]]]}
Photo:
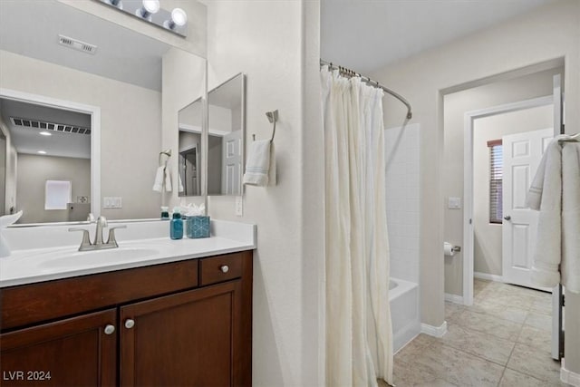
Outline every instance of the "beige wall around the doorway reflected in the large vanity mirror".
{"type": "Polygon", "coordinates": [[[160,196],[151,187],[159,162],[160,92],[5,51],[0,62],[1,87],[101,108],[101,198],[123,199],[123,208],[102,215],[159,217],[160,196]]]}

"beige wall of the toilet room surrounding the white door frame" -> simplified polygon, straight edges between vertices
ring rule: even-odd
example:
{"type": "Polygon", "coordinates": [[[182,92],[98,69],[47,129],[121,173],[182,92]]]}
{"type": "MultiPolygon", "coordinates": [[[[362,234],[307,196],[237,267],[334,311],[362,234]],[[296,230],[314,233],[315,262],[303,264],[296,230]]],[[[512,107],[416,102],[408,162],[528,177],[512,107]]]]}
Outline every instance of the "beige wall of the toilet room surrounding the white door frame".
{"type": "MultiPolygon", "coordinates": [[[[550,95],[553,89],[552,77],[563,73],[562,68],[532,73],[507,81],[488,83],[461,92],[453,92],[444,97],[444,155],[443,155],[443,199],[444,199],[444,240],[454,245],[463,244],[463,147],[464,116],[468,111],[477,111],[510,102],[519,102],[550,95]],[[461,198],[459,209],[449,209],[449,197],[461,198]]],[[[476,174],[475,176],[480,176],[476,174]]],[[[475,179],[478,184],[483,179],[475,179]]],[[[477,190],[474,190],[477,192],[477,190]]],[[[495,226],[491,226],[495,227],[495,226]]],[[[480,230],[479,230],[480,231],[480,230]]],[[[477,243],[477,242],[476,242],[477,243]]],[[[498,257],[498,259],[500,256],[498,257]]],[[[445,293],[463,295],[463,253],[446,257],[445,293]]],[[[497,266],[496,266],[497,267],[497,266]]],[[[475,271],[481,268],[476,264],[475,271]]],[[[501,264],[499,264],[501,268],[501,264]]],[[[501,272],[483,271],[501,275],[501,272]]]]}

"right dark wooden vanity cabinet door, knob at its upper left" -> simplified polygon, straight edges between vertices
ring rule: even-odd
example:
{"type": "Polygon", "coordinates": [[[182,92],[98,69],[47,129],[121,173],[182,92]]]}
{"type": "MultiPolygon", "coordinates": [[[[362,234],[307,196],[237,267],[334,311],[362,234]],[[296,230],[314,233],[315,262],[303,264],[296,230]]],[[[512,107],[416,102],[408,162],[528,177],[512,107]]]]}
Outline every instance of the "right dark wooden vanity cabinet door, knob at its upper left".
{"type": "Polygon", "coordinates": [[[121,385],[239,385],[241,307],[240,280],[121,307],[121,385]]]}

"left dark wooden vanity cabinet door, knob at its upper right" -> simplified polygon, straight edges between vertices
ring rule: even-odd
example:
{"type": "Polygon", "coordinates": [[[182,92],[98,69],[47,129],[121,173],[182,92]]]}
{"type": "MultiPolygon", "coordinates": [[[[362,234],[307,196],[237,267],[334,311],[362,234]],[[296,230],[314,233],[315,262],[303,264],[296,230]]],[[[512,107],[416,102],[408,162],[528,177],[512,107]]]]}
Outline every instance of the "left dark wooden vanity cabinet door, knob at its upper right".
{"type": "Polygon", "coordinates": [[[1,334],[0,385],[115,385],[116,320],[110,309],[1,334]]]}

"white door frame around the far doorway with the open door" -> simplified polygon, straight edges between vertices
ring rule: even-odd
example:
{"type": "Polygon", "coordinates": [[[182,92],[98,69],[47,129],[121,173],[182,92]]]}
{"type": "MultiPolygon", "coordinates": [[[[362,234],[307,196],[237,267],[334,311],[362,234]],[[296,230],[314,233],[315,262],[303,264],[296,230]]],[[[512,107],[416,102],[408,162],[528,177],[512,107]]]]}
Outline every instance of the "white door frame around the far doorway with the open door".
{"type": "MultiPolygon", "coordinates": [[[[475,120],[504,114],[513,111],[523,111],[554,103],[553,95],[533,98],[531,100],[506,103],[464,114],[463,124],[463,304],[473,304],[473,266],[474,266],[474,227],[473,227],[473,130],[475,120]]],[[[559,128],[554,128],[554,135],[560,134],[559,128]]],[[[503,276],[499,276],[499,279],[503,276]]]]}

